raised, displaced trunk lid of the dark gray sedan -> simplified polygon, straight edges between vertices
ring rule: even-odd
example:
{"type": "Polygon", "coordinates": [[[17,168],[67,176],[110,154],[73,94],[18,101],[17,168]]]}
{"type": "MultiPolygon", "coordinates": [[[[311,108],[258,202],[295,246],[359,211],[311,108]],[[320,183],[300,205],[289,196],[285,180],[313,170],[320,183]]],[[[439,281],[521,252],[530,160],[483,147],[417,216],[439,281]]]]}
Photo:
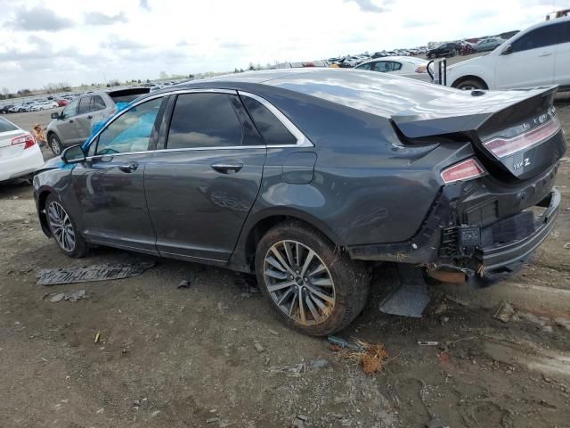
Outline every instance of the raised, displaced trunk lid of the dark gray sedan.
{"type": "Polygon", "coordinates": [[[556,86],[456,91],[391,116],[409,142],[467,137],[477,159],[506,181],[535,177],[566,152],[553,99],[556,86]]]}

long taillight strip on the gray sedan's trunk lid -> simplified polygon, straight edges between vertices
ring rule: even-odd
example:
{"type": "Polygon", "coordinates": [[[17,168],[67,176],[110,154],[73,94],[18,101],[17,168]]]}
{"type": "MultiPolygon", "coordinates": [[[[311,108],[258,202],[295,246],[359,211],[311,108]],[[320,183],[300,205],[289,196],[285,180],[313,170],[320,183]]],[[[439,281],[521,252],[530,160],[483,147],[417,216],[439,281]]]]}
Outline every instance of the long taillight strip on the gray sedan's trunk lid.
{"type": "Polygon", "coordinates": [[[524,134],[513,136],[512,138],[493,138],[492,140],[485,141],[483,145],[497,158],[501,159],[534,144],[542,143],[544,140],[554,136],[559,130],[560,122],[558,118],[555,117],[540,127],[527,131],[524,134]]]}

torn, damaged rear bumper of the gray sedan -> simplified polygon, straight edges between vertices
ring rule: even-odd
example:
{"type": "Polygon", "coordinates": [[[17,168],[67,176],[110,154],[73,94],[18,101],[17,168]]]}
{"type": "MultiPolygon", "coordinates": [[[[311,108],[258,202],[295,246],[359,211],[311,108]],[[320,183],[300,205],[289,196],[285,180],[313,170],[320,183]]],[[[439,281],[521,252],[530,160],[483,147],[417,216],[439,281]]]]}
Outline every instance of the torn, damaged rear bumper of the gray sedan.
{"type": "Polygon", "coordinates": [[[444,186],[411,240],[355,245],[348,247],[349,254],[353,259],[459,272],[475,284],[484,272],[488,278],[504,276],[519,268],[550,234],[561,200],[552,187],[554,177],[552,169],[524,188],[492,193],[480,187],[467,198],[463,185],[444,186]],[[504,207],[509,211],[494,218],[504,207]],[[535,217],[535,207],[543,210],[539,217],[535,217]]]}

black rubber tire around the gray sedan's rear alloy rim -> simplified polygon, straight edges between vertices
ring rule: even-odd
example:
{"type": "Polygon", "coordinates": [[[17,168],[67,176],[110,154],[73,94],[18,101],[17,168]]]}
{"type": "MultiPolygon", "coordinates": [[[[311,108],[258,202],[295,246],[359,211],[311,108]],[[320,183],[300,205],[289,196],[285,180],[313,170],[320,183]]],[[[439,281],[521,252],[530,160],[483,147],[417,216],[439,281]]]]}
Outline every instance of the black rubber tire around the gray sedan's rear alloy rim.
{"type": "MultiPolygon", "coordinates": [[[[294,255],[293,259],[295,259],[294,255]]],[[[299,263],[299,266],[300,265],[301,263],[299,263]]],[[[315,270],[318,270],[318,268],[315,270]]],[[[312,275],[314,274],[307,275],[310,276],[309,283],[307,283],[310,285],[307,286],[307,290],[310,287],[315,287],[316,281],[312,275]],[[315,283],[313,283],[313,281],[315,281],[315,283]]],[[[285,276],[286,278],[281,279],[281,281],[287,281],[289,277],[293,278],[293,276],[287,277],[287,273],[285,273],[285,276]]],[[[354,318],[361,313],[370,291],[370,275],[363,262],[350,259],[344,251],[341,251],[331,243],[325,235],[322,235],[319,231],[299,221],[288,221],[273,226],[273,228],[261,238],[256,249],[256,277],[259,288],[267,300],[270,301],[274,312],[281,322],[300,333],[312,336],[324,336],[335,333],[346,327],[346,325],[349,325],[354,321],[354,318]],[[272,293],[268,290],[268,286],[270,286],[268,282],[271,282],[273,279],[270,276],[265,276],[265,268],[268,266],[266,264],[266,256],[273,254],[270,253],[273,245],[282,245],[284,242],[300,243],[305,247],[305,251],[314,251],[317,256],[316,259],[314,258],[317,266],[320,267],[321,264],[324,265],[327,269],[325,275],[330,276],[332,280],[331,293],[333,293],[334,296],[334,303],[322,300],[322,302],[327,304],[327,308],[323,311],[317,310],[319,315],[323,318],[318,322],[316,322],[316,318],[314,317],[313,321],[309,322],[309,317],[312,317],[309,310],[306,311],[307,323],[305,324],[301,323],[300,320],[290,317],[285,313],[283,309],[284,305],[279,306],[278,302],[274,300],[275,297],[272,296],[272,293]]],[[[305,301],[311,299],[314,301],[314,294],[306,291],[305,287],[302,286],[303,278],[299,276],[298,279],[300,280],[300,284],[297,282],[296,285],[289,288],[294,290],[293,293],[300,292],[300,295],[305,297],[305,301]],[[311,294],[311,297],[308,294],[311,294]]],[[[290,282],[295,282],[296,280],[297,278],[290,282]]],[[[307,280],[305,279],[305,281],[307,280]]],[[[285,291],[282,292],[279,297],[282,297],[285,293],[285,291]]],[[[297,300],[298,294],[293,294],[291,297],[291,305],[295,304],[298,309],[298,301],[303,299],[297,300]]],[[[319,308],[321,308],[321,306],[319,308]]],[[[313,305],[313,309],[318,308],[313,305]]],[[[291,313],[290,310],[289,313],[291,313]]],[[[297,310],[295,314],[299,314],[300,318],[300,310],[297,310]]]]}

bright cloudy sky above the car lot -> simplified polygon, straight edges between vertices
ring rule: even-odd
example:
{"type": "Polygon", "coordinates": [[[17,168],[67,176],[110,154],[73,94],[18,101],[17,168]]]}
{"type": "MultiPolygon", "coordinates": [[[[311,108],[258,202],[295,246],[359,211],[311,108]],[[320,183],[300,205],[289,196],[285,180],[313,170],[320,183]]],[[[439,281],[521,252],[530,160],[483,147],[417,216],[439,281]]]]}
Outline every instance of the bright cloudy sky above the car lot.
{"type": "Polygon", "coordinates": [[[568,0],[0,0],[0,90],[247,68],[476,37],[568,0]]]}

